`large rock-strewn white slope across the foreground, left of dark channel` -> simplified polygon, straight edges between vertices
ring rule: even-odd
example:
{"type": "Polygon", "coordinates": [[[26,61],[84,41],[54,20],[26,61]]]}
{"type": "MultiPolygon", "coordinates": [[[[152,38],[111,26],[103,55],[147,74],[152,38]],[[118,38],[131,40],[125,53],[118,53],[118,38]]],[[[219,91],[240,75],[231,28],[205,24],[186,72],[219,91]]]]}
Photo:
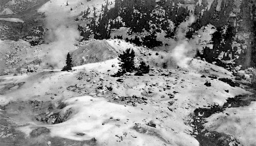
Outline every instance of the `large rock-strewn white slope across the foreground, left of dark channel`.
{"type": "MultiPolygon", "coordinates": [[[[1,105],[9,101],[49,101],[50,97],[54,97],[56,103],[60,100],[66,103],[61,112],[65,113],[71,108],[74,114],[65,122],[46,126],[52,136],[72,140],[95,137],[99,145],[198,146],[196,139],[190,135],[192,128],[185,124],[187,116],[198,107],[222,105],[226,98],[248,92],[216,79],[201,78],[202,74],[231,77],[221,67],[196,59],[190,65],[187,69],[179,70],[152,68],[154,70],[150,74],[154,76],[124,75],[123,83],[116,81],[119,78],[109,76],[118,70],[117,59],[74,67],[76,71],[71,72],[54,70],[24,76],[3,76],[1,105]],[[195,66],[202,68],[198,71],[198,68],[193,69],[195,66]],[[170,75],[164,76],[162,73],[170,75]],[[90,81],[86,81],[88,78],[90,81]],[[206,87],[206,81],[210,81],[212,86],[206,87]],[[21,87],[6,88],[7,83],[16,85],[21,82],[25,82],[21,87]],[[67,89],[71,85],[76,91],[67,89]],[[103,88],[98,89],[99,86],[103,88]],[[108,91],[108,86],[112,86],[113,90],[108,91]],[[167,89],[163,91],[164,88],[167,89]],[[224,90],[229,90],[229,93],[224,90]],[[174,94],[173,91],[178,93],[174,94]],[[93,97],[84,96],[86,94],[93,97]],[[174,94],[175,97],[170,99],[167,94],[174,94]],[[147,103],[132,107],[113,100],[115,96],[132,95],[145,97],[147,103]],[[156,128],[146,125],[150,120],[154,120],[156,128]],[[140,132],[145,130],[147,132],[140,132]],[[83,132],[86,136],[78,136],[77,132],[83,132]],[[124,135],[125,132],[127,135],[124,135]]],[[[34,126],[39,125],[34,123],[19,129],[28,134],[34,126]]]]}

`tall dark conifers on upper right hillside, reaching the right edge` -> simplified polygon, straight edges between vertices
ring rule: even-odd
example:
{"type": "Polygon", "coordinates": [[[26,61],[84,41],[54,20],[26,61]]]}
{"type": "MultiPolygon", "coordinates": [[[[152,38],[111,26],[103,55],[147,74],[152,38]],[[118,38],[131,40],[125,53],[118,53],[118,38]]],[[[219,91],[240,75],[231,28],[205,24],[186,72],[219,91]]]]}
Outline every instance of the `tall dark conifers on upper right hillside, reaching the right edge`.
{"type": "MultiPolygon", "coordinates": [[[[256,6],[251,5],[249,1],[242,1],[240,5],[240,13],[236,13],[236,18],[230,18],[230,14],[234,9],[234,0],[223,0],[219,10],[217,11],[218,0],[214,0],[207,9],[207,0],[201,0],[201,4],[197,4],[194,10],[194,15],[197,16],[197,21],[192,24],[191,30],[187,32],[186,37],[190,38],[191,33],[195,30],[199,30],[202,26],[212,24],[216,27],[216,32],[212,34],[213,48],[204,47],[201,57],[205,58],[208,62],[216,61],[217,65],[223,67],[230,67],[229,64],[223,63],[226,60],[235,60],[236,64],[233,66],[242,65],[246,67],[256,66],[256,6]],[[236,20],[236,25],[233,24],[236,20]],[[232,22],[232,21],[233,22],[232,22]],[[239,21],[242,20],[242,21],[239,21]],[[242,52],[238,54],[238,47],[232,47],[237,32],[246,32],[249,38],[246,41],[240,41],[242,52]],[[246,42],[246,43],[245,43],[246,42]],[[245,44],[244,44],[245,43],[245,44]],[[246,45],[243,48],[242,45],[246,45]],[[219,56],[220,53],[224,53],[223,56],[219,56]],[[237,55],[239,57],[237,58],[237,55]],[[218,59],[218,57],[221,58],[218,59]]],[[[198,54],[200,56],[200,54],[198,54]]]]}

